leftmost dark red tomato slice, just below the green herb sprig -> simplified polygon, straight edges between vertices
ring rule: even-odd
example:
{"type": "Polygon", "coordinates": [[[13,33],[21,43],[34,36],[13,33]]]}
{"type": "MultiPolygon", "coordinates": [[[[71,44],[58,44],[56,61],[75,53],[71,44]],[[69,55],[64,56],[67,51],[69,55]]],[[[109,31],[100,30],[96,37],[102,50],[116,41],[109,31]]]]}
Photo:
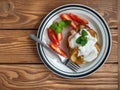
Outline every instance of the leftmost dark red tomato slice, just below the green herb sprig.
{"type": "Polygon", "coordinates": [[[51,42],[53,42],[55,45],[57,45],[57,46],[60,45],[59,41],[57,40],[54,30],[48,29],[48,37],[51,40],[51,42]]]}

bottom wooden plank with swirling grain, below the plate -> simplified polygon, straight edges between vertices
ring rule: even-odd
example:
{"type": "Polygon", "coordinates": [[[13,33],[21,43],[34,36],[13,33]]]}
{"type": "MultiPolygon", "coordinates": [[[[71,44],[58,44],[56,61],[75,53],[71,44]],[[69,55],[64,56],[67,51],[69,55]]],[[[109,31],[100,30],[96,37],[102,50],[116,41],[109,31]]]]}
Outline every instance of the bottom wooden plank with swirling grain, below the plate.
{"type": "Polygon", "coordinates": [[[118,90],[118,64],[105,64],[83,79],[65,79],[44,65],[0,65],[1,90],[118,90]]]}

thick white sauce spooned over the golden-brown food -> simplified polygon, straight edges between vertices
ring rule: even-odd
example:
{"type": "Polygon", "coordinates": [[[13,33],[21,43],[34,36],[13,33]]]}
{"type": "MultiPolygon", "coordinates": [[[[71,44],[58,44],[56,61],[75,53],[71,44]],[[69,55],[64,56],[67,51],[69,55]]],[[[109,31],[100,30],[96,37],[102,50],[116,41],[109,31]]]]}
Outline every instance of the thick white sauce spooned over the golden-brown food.
{"type": "Polygon", "coordinates": [[[94,38],[93,36],[91,36],[91,34],[84,29],[88,35],[87,35],[87,39],[88,42],[85,46],[81,46],[80,44],[76,43],[76,39],[81,36],[81,31],[79,33],[76,33],[74,30],[71,31],[71,36],[68,38],[69,41],[69,47],[70,48],[75,48],[78,47],[78,56],[83,55],[84,56],[84,60],[86,62],[91,62],[93,61],[97,55],[98,55],[98,51],[97,48],[95,47],[95,44],[97,42],[97,39],[94,38]]]}

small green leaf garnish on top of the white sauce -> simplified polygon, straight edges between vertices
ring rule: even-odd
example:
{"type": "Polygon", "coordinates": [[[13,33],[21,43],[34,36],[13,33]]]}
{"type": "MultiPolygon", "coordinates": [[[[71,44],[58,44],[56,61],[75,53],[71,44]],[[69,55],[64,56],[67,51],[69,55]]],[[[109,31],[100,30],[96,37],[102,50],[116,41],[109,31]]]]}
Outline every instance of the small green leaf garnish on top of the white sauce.
{"type": "Polygon", "coordinates": [[[85,46],[88,42],[87,35],[88,33],[85,30],[82,30],[81,36],[76,39],[76,43],[80,44],[81,46],[85,46]]]}

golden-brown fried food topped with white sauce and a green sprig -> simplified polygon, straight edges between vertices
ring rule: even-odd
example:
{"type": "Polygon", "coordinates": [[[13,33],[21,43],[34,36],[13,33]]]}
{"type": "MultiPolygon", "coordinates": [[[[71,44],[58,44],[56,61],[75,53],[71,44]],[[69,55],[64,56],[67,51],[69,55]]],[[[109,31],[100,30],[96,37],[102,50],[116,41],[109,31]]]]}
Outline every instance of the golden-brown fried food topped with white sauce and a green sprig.
{"type": "Polygon", "coordinates": [[[93,61],[100,52],[97,33],[86,25],[78,30],[71,30],[68,37],[70,60],[76,64],[93,61]]]}

